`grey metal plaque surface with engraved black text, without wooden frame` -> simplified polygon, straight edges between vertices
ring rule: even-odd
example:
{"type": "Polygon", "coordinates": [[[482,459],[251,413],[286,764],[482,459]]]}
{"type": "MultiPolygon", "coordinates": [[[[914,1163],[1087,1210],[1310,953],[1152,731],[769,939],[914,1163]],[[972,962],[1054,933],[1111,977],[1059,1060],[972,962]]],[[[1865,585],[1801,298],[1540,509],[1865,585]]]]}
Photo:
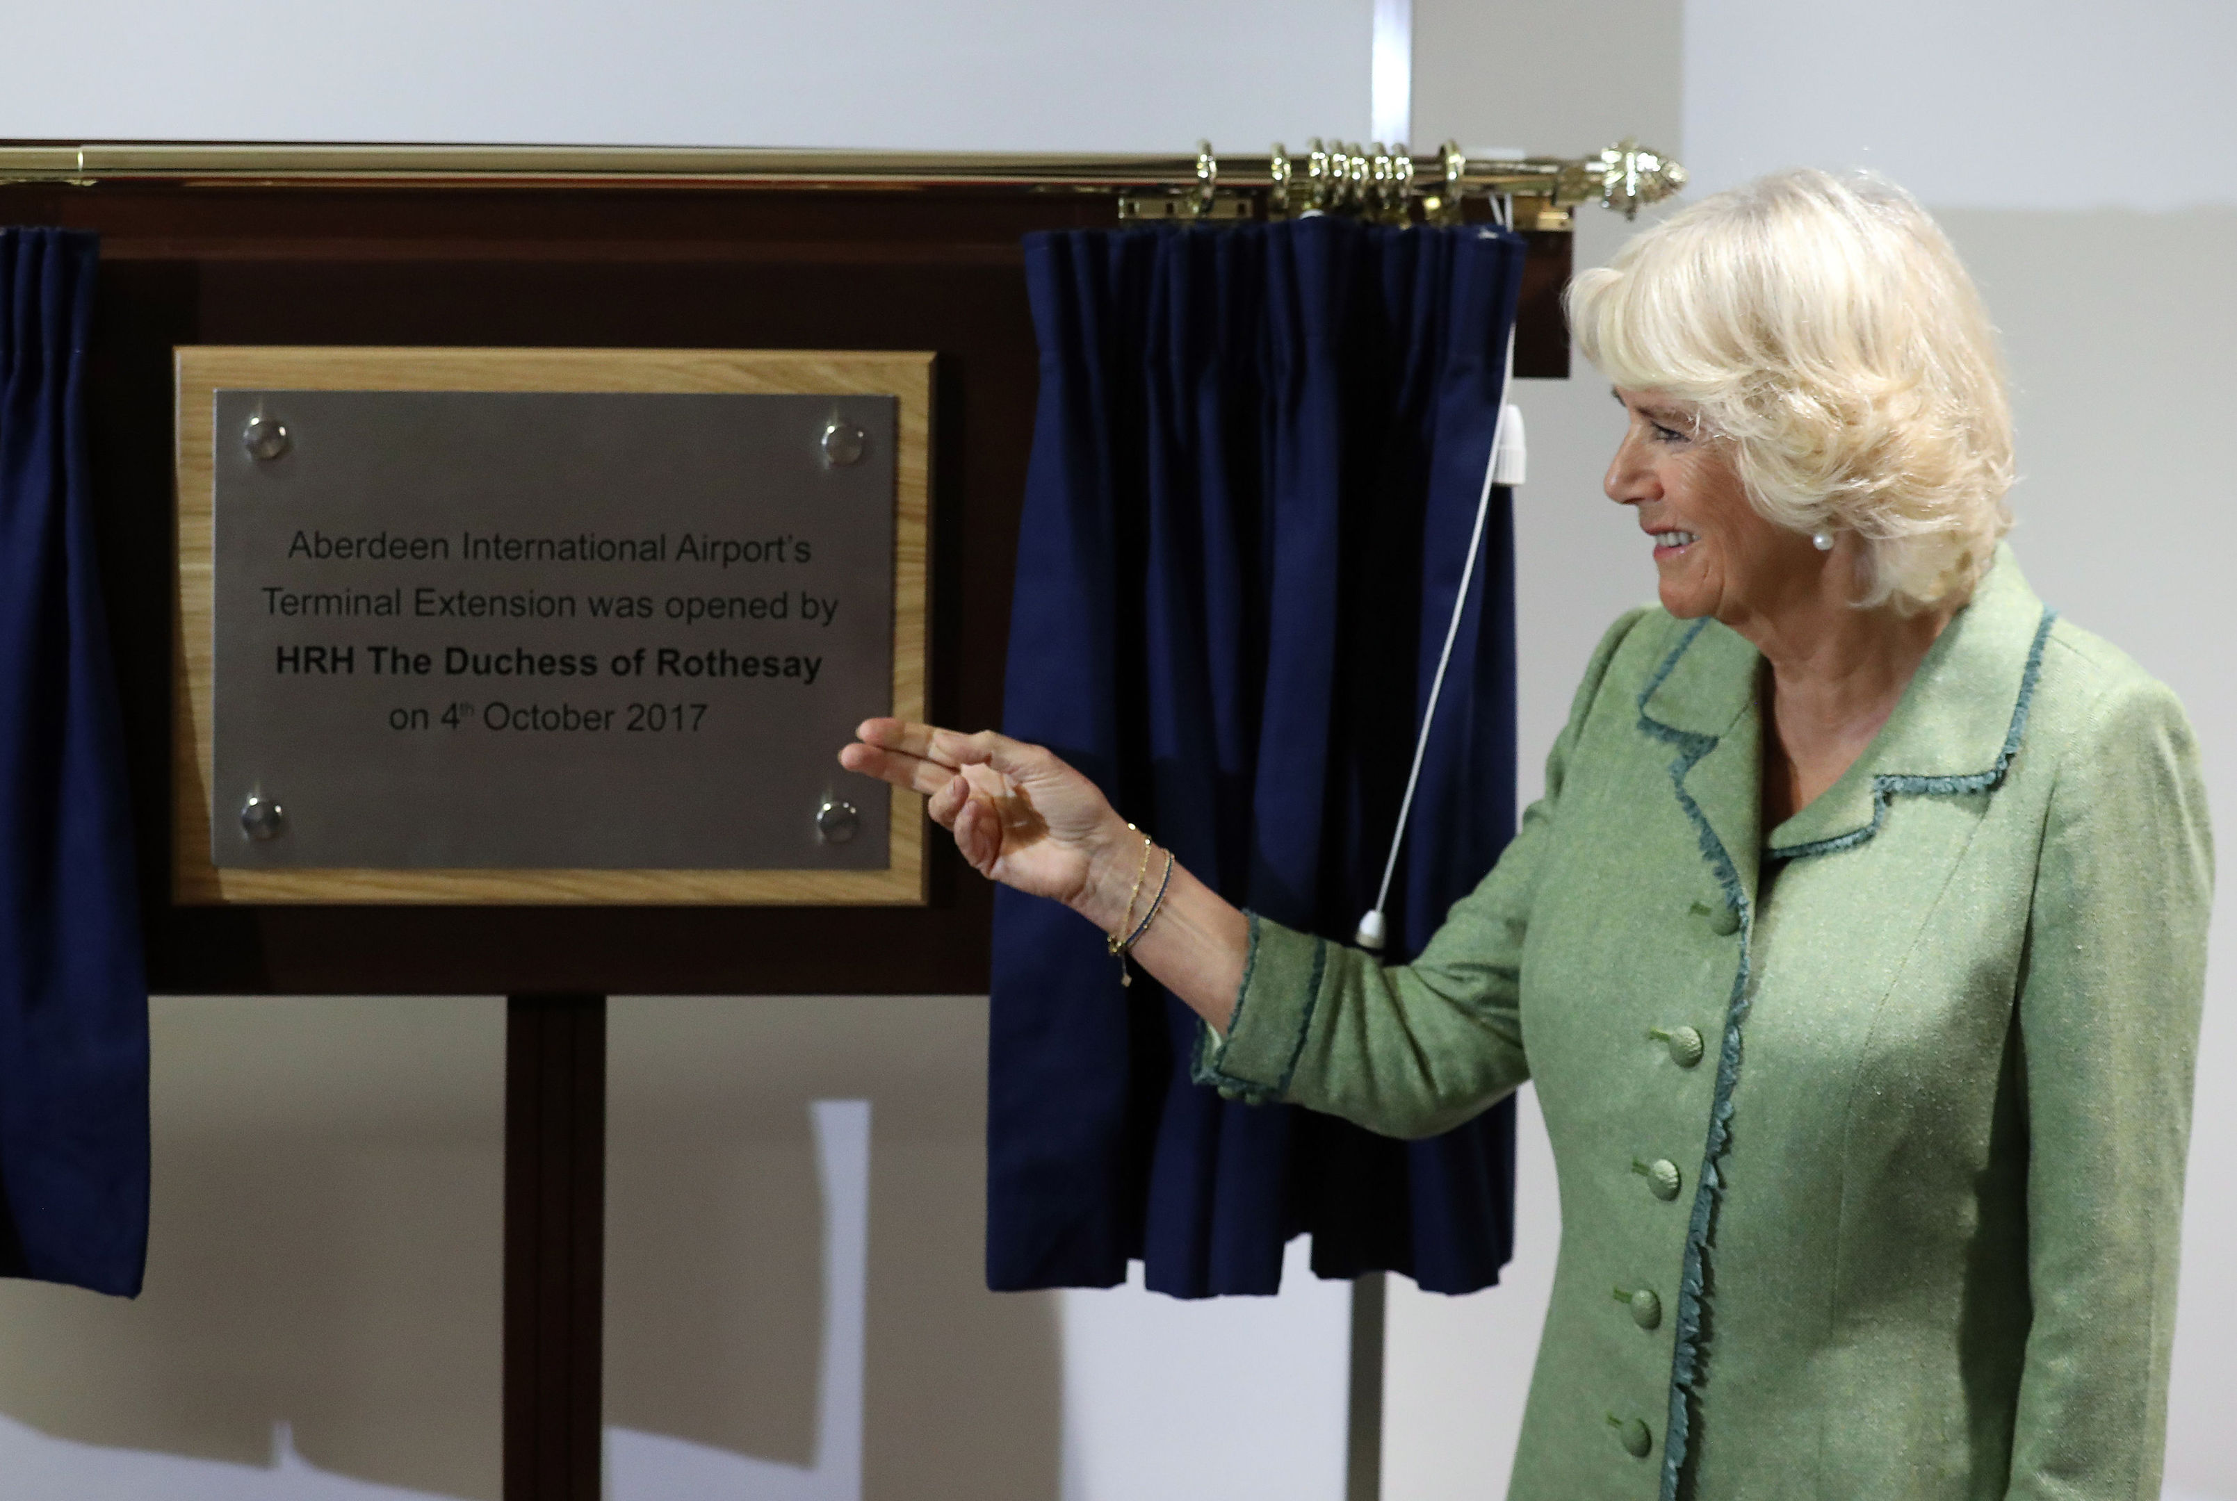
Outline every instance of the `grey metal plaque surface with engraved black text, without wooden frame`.
{"type": "Polygon", "coordinates": [[[837,752],[893,705],[895,398],[215,403],[217,866],[886,866],[837,752]]]}

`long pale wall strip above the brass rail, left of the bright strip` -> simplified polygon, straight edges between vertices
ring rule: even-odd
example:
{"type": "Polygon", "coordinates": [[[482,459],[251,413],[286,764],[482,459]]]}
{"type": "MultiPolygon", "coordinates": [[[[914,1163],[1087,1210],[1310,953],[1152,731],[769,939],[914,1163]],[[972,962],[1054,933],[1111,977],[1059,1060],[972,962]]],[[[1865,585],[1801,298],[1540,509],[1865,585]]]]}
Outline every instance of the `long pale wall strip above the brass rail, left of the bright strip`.
{"type": "Polygon", "coordinates": [[[1371,0],[72,0],[0,139],[1192,152],[1367,134],[1371,0]],[[89,45],[98,38],[98,45],[89,45]]]}

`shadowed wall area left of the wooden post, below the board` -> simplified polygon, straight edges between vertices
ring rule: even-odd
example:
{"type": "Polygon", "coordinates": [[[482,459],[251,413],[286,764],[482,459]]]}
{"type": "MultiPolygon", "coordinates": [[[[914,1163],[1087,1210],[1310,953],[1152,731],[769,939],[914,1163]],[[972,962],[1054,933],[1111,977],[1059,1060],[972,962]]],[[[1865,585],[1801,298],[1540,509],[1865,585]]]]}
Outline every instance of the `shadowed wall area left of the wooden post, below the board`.
{"type": "Polygon", "coordinates": [[[136,1302],[0,1282],[7,1501],[499,1497],[506,1007],[159,998],[136,1302]]]}

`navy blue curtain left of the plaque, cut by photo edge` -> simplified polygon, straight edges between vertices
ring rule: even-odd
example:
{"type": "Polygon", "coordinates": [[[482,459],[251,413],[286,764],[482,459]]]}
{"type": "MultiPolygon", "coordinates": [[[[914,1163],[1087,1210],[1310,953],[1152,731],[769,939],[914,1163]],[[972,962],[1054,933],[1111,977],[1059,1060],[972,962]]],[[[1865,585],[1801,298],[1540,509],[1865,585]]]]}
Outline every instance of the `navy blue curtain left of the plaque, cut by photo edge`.
{"type": "Polygon", "coordinates": [[[0,230],[0,1273],[132,1295],[148,986],[87,481],[96,259],[0,230]]]}

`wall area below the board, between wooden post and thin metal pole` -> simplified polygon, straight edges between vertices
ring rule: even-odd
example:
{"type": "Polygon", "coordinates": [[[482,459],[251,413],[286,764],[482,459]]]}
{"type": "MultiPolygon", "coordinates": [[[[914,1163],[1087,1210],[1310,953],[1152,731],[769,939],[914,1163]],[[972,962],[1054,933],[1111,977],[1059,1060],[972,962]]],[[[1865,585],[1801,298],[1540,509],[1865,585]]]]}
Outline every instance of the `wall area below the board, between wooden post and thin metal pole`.
{"type": "Polygon", "coordinates": [[[608,1016],[611,1501],[1340,1501],[1304,1242],[1280,1297],[987,1291],[980,998],[608,1016]]]}

